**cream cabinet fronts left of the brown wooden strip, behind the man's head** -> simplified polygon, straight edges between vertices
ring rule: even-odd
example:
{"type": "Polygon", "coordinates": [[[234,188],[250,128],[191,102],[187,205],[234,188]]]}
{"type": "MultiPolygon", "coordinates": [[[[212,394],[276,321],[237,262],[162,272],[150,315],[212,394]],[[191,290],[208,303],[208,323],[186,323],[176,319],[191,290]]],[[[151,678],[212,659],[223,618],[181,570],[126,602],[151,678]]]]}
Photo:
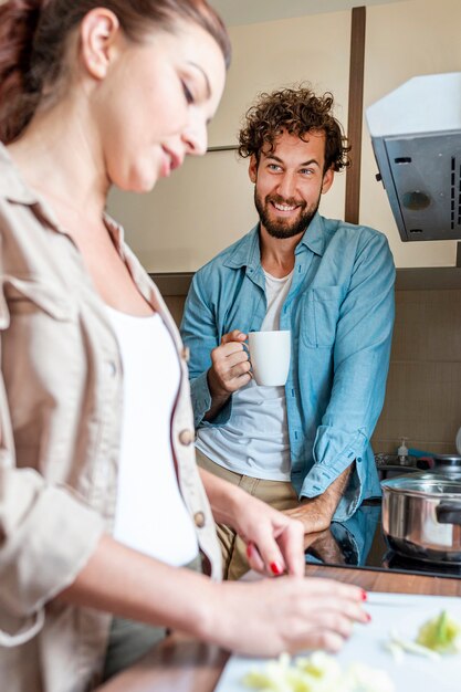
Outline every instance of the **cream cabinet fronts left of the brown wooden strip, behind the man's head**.
{"type": "MultiPolygon", "coordinates": [[[[242,115],[256,93],[311,81],[331,90],[347,122],[350,13],[318,14],[230,29],[233,61],[210,146],[235,144],[242,115]]],[[[151,272],[195,271],[255,223],[248,162],[234,151],[189,159],[150,195],[114,191],[109,212],[151,272]]],[[[326,216],[344,213],[345,177],[323,198],[326,216]]]]}

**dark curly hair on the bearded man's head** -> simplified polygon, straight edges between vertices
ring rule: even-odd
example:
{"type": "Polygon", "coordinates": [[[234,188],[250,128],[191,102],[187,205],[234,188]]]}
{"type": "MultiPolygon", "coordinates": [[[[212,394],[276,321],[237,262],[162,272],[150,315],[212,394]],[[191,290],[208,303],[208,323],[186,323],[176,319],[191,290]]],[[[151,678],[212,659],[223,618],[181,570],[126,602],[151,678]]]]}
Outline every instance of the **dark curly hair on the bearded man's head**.
{"type": "Polygon", "coordinates": [[[347,138],[343,127],[332,115],[334,98],[329,92],[316,96],[310,87],[282,88],[262,93],[247,112],[244,126],[239,133],[239,154],[243,158],[254,155],[260,160],[261,150],[269,144],[275,149],[275,139],[282,130],[304,139],[311,130],[325,133],[325,171],[349,166],[347,138]]]}

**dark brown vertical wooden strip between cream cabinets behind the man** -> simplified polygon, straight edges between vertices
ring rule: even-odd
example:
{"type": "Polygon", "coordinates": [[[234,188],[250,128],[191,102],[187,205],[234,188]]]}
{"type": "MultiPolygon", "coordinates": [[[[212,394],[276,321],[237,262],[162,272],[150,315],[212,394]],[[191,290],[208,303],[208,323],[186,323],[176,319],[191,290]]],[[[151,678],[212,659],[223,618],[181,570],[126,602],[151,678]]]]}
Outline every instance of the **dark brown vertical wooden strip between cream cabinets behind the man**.
{"type": "Polygon", "coordinates": [[[353,8],[350,27],[349,105],[347,137],[352,146],[350,166],[346,172],[344,219],[358,223],[360,207],[362,124],[364,117],[366,8],[353,8]]]}

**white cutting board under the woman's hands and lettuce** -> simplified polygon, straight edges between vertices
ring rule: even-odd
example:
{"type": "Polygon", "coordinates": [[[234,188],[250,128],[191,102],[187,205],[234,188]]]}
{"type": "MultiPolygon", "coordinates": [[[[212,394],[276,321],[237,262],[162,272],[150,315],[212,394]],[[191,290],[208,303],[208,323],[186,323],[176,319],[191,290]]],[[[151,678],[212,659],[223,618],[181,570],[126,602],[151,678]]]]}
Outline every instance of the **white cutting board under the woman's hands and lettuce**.
{"type": "MultiPolygon", "coordinates": [[[[368,593],[366,609],[371,622],[355,627],[337,654],[342,664],[355,661],[386,670],[396,692],[461,692],[461,654],[432,661],[406,653],[402,661],[396,662],[383,647],[391,629],[415,639],[419,627],[443,609],[461,622],[461,598],[368,593]]],[[[232,656],[214,692],[244,692],[248,688],[241,684],[243,677],[249,670],[263,667],[266,660],[232,656]]]]}

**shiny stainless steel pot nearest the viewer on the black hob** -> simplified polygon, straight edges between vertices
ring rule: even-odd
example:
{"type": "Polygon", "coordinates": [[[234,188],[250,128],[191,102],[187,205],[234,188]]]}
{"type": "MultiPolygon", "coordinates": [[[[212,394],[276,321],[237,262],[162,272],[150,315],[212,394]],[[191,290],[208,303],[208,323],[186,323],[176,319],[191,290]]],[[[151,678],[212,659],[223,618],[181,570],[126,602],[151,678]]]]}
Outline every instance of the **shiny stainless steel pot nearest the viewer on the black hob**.
{"type": "Polygon", "coordinates": [[[383,530],[401,555],[461,564],[461,473],[420,472],[383,481],[383,530]]]}

